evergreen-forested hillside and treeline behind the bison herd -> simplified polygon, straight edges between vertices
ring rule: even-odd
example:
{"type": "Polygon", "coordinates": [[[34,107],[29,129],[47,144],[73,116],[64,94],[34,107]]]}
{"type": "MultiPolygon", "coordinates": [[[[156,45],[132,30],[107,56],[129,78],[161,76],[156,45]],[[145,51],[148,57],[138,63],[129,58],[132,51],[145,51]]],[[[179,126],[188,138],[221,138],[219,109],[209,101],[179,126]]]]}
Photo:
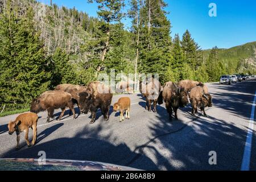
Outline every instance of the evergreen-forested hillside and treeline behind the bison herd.
{"type": "Polygon", "coordinates": [[[135,73],[135,78],[159,73],[162,83],[206,82],[225,73],[249,72],[247,67],[255,63],[255,43],[201,51],[188,30],[171,38],[163,0],[94,2],[97,18],[52,3],[0,0],[0,108],[27,108],[45,90],[61,83],[86,85],[110,69],[135,73]],[[126,17],[132,21],[129,30],[121,23],[126,17]]]}

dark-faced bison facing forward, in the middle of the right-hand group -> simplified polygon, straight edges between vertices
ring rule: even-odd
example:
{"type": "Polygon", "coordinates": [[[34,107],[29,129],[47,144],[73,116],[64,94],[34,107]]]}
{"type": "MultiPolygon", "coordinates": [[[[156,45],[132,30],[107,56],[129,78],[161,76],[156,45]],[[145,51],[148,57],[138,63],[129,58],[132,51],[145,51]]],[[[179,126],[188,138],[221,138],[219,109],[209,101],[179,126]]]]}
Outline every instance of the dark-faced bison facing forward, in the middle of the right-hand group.
{"type": "Polygon", "coordinates": [[[170,120],[172,120],[172,110],[174,110],[175,119],[177,119],[177,109],[188,104],[187,92],[185,92],[184,88],[177,87],[171,81],[164,84],[163,92],[159,97],[160,101],[161,99],[166,102],[166,109],[170,120]]]}

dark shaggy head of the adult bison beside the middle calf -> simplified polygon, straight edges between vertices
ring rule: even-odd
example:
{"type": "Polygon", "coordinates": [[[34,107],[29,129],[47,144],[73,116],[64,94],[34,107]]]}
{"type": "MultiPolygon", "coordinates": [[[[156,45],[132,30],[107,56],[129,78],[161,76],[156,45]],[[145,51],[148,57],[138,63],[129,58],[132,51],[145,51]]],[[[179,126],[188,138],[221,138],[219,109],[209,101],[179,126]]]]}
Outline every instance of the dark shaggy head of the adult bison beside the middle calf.
{"type": "Polygon", "coordinates": [[[90,104],[93,101],[92,91],[86,89],[85,91],[77,93],[79,109],[82,113],[87,114],[90,109],[90,104]]]}

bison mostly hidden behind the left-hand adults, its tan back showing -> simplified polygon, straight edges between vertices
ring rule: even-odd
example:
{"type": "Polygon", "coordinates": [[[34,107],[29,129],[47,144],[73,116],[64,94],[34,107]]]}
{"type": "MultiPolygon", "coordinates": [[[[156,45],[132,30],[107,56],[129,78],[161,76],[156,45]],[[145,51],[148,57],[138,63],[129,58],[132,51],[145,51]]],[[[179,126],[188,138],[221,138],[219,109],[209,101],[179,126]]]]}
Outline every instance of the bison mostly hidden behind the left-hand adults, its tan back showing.
{"type": "MultiPolygon", "coordinates": [[[[86,86],[80,86],[80,85],[73,85],[73,84],[60,84],[57,85],[54,90],[62,90],[64,92],[68,92],[72,96],[73,104],[78,104],[78,96],[77,93],[81,92],[82,90],[86,90],[86,86]]],[[[69,110],[69,115],[71,115],[71,110],[69,110]]]]}

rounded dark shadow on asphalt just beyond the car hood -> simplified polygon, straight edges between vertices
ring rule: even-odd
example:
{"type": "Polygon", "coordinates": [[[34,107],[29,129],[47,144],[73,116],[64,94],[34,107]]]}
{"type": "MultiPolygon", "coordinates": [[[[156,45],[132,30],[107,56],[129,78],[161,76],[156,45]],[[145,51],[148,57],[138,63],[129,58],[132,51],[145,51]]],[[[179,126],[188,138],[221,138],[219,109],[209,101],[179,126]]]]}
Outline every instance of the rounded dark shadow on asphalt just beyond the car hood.
{"type": "MultiPolygon", "coordinates": [[[[38,158],[38,152],[45,151],[48,159],[90,160],[124,166],[129,158],[137,155],[126,143],[110,142],[110,138],[115,140],[112,132],[108,135],[100,135],[100,131],[106,127],[104,122],[98,123],[96,127],[89,127],[92,125],[88,124],[72,138],[64,137],[41,142],[60,126],[62,125],[52,126],[51,129],[42,131],[38,135],[39,143],[36,143],[34,147],[20,151],[8,151],[1,158],[38,158]]],[[[147,156],[142,156],[142,159],[151,167],[157,168],[147,156]]],[[[138,167],[139,169],[145,168],[143,164],[138,167]]]]}

